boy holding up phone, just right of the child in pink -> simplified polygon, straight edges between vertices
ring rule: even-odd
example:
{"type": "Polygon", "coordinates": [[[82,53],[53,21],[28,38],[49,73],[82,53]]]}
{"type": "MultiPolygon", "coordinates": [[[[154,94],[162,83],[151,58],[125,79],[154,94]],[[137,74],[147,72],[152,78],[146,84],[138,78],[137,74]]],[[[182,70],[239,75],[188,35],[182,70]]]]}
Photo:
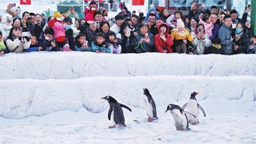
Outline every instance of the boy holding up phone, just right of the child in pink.
{"type": "Polygon", "coordinates": [[[81,51],[81,52],[91,52],[91,48],[90,46],[88,46],[88,41],[87,41],[87,44],[84,43],[85,41],[86,41],[86,35],[83,33],[78,34],[75,50],[81,51]]]}

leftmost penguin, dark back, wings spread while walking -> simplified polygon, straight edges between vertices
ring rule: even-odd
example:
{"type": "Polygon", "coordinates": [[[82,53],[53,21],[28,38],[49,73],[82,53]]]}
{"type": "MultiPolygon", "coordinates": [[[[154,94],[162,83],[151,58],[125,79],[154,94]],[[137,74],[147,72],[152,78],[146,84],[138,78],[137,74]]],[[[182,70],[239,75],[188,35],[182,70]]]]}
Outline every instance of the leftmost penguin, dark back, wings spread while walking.
{"type": "Polygon", "coordinates": [[[111,119],[114,123],[114,126],[109,126],[108,128],[114,128],[117,124],[126,127],[126,125],[124,124],[125,120],[122,107],[127,108],[130,111],[132,110],[128,106],[118,103],[116,99],[114,99],[112,96],[105,96],[102,99],[108,101],[110,106],[108,110],[108,120],[111,119]]]}

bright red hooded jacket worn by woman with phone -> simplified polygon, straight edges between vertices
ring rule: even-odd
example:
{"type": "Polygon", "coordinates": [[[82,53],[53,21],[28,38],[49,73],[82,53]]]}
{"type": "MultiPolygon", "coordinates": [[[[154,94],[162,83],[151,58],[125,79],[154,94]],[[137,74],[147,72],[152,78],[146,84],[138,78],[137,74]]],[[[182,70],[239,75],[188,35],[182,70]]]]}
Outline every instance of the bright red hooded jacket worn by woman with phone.
{"type": "Polygon", "coordinates": [[[168,34],[168,32],[169,32],[169,26],[166,23],[161,23],[158,28],[158,34],[156,34],[156,36],[154,36],[154,42],[155,42],[156,50],[158,52],[167,50],[167,53],[172,53],[171,46],[173,45],[173,41],[172,41],[171,35],[168,34]],[[160,26],[162,26],[162,25],[166,25],[166,27],[167,27],[167,30],[164,33],[166,42],[164,42],[164,40],[162,40],[162,38],[160,38],[160,33],[161,33],[160,26]]]}

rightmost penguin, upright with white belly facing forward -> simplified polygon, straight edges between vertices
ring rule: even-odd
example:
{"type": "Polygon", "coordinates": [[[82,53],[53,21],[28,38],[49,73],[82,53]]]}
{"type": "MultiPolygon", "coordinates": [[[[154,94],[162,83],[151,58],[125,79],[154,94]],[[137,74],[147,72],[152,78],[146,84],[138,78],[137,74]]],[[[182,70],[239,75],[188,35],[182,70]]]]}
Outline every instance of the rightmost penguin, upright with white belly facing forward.
{"type": "MultiPolygon", "coordinates": [[[[192,122],[193,125],[196,125],[196,122],[198,122],[199,119],[199,109],[202,110],[204,113],[204,116],[206,116],[204,109],[197,103],[196,101],[196,95],[199,94],[198,92],[193,92],[191,93],[190,99],[184,106],[182,106],[182,110],[185,110],[187,112],[190,112],[191,114],[194,114],[196,118],[193,116],[188,116],[188,122],[192,122]]],[[[199,122],[198,122],[199,123],[199,122]]]]}

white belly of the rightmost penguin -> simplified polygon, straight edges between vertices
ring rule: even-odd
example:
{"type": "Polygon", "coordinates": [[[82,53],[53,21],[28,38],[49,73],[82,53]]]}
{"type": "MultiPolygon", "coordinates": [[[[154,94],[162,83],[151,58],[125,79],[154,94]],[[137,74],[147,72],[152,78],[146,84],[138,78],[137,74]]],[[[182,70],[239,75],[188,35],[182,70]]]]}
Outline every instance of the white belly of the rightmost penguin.
{"type": "Polygon", "coordinates": [[[194,116],[191,116],[191,114],[187,114],[188,120],[192,120],[194,122],[197,122],[199,119],[199,108],[197,107],[196,100],[188,100],[188,107],[186,109],[187,112],[190,112],[191,114],[194,114],[194,116]]]}

